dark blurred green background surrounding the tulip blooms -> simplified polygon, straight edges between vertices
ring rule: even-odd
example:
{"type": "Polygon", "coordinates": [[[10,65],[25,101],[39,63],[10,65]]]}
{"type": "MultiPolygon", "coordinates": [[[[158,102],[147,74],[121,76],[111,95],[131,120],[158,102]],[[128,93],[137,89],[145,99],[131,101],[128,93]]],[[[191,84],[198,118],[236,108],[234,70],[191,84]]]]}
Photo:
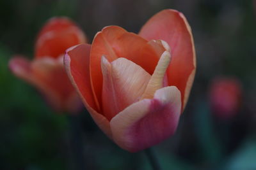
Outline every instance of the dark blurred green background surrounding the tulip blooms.
{"type": "Polygon", "coordinates": [[[92,42],[106,25],[138,32],[157,11],[184,13],[193,30],[195,83],[174,136],[154,146],[163,169],[256,169],[256,3],[250,0],[1,0],[0,169],[150,169],[143,152],[118,148],[85,109],[54,113],[8,69],[17,53],[33,57],[40,27],[68,16],[92,42]],[[255,4],[255,6],[253,6],[255,4]],[[255,10],[255,11],[254,11],[255,10]],[[209,103],[212,79],[236,78],[241,107],[226,119],[209,103]]]}

